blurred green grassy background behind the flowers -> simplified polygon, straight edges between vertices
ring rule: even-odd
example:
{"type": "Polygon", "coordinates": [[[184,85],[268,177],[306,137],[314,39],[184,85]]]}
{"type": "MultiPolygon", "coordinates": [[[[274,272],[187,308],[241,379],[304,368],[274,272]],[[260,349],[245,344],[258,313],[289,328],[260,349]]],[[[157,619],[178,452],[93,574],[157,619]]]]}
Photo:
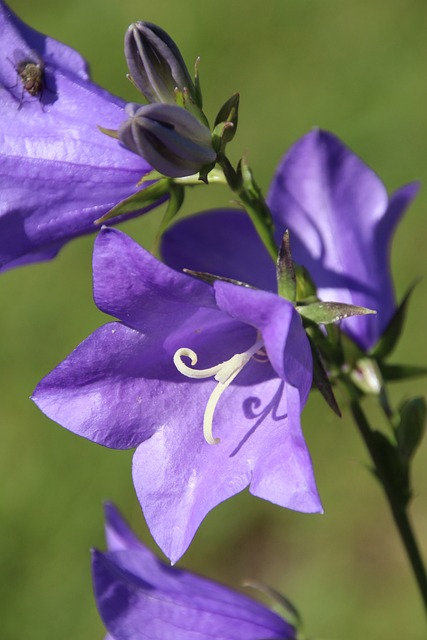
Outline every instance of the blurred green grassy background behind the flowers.
{"type": "MultiPolygon", "coordinates": [[[[11,0],[25,21],[78,49],[94,79],[137,100],[125,78],[123,34],[150,20],[165,28],[189,65],[202,56],[212,118],[239,90],[234,159],[247,152],[267,189],[283,152],[313,126],[338,134],[393,190],[427,182],[425,0],[11,0]]],[[[100,123],[102,124],[102,123],[100,123]]],[[[187,211],[226,204],[200,189],[187,211]]],[[[393,248],[402,296],[427,269],[426,191],[393,248]]],[[[149,246],[158,213],[124,225],[149,246]]],[[[103,449],[61,429],[27,399],[37,381],[104,321],[91,298],[93,238],[50,264],[2,275],[0,637],[102,638],[89,548],[103,547],[101,503],[114,500],[152,545],[134,495],[131,452],[103,449]]],[[[417,287],[394,361],[425,364],[425,279],[417,287]],[[423,313],[424,312],[424,313],[423,313]]],[[[425,381],[394,388],[394,400],[425,381]]],[[[367,403],[367,408],[369,403],[367,403]]],[[[345,412],[346,413],[346,412],[345,412]]],[[[425,637],[406,558],[367,457],[347,417],[313,395],[303,416],[325,515],[282,510],[246,492],[215,509],[181,566],[240,587],[264,581],[301,609],[307,634],[324,639],[425,637]]],[[[212,478],[215,482],[215,478],[212,478]]],[[[427,451],[414,468],[412,516],[427,556],[427,451]]]]}

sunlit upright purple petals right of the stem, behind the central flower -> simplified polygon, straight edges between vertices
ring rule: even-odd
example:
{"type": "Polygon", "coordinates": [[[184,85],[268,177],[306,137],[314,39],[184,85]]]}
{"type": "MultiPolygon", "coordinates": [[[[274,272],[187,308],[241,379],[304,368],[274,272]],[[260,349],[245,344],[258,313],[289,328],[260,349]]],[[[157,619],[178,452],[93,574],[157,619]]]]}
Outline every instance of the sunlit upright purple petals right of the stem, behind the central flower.
{"type": "Polygon", "coordinates": [[[378,311],[378,317],[344,321],[365,348],[376,342],[395,309],[388,245],[414,195],[415,187],[408,186],[390,209],[377,175],[338,138],[320,130],[291,148],[271,185],[268,201],[278,233],[290,229],[293,257],[307,267],[320,297],[378,311]]]}

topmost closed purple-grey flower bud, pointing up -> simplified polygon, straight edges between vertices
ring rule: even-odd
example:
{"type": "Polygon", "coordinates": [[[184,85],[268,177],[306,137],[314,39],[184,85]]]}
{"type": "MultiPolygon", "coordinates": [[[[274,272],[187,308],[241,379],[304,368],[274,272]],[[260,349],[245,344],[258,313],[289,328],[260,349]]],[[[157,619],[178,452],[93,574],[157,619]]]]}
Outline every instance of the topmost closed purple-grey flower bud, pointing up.
{"type": "Polygon", "coordinates": [[[148,102],[175,104],[179,92],[184,102],[202,108],[198,85],[193,83],[178,47],[163,29],[150,22],[131,24],[125,35],[125,56],[131,79],[148,102]]]}

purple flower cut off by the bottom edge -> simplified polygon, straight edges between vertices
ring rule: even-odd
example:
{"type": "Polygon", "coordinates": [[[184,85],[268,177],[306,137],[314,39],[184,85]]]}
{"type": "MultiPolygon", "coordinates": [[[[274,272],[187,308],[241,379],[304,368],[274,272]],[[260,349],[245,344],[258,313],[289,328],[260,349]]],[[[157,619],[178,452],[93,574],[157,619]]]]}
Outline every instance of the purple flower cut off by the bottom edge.
{"type": "Polygon", "coordinates": [[[227,587],[160,562],[106,505],[108,551],[94,551],[99,613],[111,640],[287,640],[295,629],[227,587]]]}

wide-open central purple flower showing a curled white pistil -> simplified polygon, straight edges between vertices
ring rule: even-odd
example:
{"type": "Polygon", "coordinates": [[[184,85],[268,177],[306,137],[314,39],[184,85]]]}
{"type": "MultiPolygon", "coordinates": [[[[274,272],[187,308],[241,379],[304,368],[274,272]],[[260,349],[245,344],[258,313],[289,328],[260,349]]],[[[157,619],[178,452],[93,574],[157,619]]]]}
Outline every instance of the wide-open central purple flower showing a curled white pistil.
{"type": "Polygon", "coordinates": [[[213,507],[248,485],[283,507],[321,511],[300,427],[311,351],[292,304],[177,273],[114,229],[98,235],[93,266],[95,302],[121,322],[77,347],[33,399],[81,436],[137,447],[136,492],[171,561],[213,507]]]}

